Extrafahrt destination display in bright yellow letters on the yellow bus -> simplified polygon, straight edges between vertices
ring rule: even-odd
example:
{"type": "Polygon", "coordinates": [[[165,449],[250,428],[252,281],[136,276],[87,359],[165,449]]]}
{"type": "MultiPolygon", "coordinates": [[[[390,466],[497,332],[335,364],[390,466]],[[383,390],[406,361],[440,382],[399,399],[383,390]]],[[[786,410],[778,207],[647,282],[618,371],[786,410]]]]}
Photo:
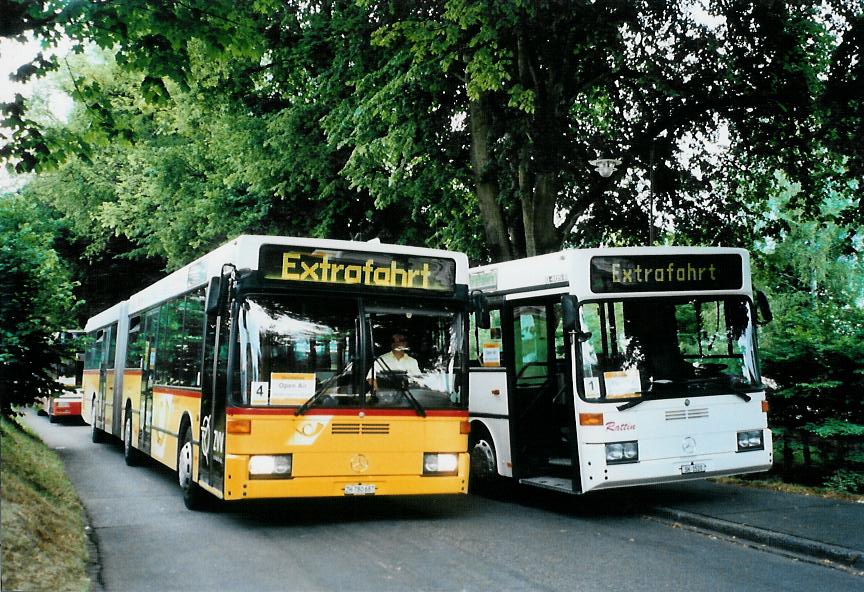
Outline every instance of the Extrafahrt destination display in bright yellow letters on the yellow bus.
{"type": "Polygon", "coordinates": [[[438,257],[265,245],[259,258],[268,280],[438,293],[456,283],[456,262],[438,257]]]}

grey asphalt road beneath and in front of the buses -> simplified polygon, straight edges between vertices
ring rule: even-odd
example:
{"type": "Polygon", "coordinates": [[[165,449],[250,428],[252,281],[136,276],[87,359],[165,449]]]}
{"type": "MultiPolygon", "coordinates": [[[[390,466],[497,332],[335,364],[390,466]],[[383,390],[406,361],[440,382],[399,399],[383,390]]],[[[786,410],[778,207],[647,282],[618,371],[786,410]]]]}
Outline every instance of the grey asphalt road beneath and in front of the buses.
{"type": "Polygon", "coordinates": [[[89,426],[26,422],[66,463],[98,547],[96,589],[860,590],[841,570],[644,515],[639,490],[573,498],[364,498],[186,510],[174,475],[130,468],[89,426]]]}

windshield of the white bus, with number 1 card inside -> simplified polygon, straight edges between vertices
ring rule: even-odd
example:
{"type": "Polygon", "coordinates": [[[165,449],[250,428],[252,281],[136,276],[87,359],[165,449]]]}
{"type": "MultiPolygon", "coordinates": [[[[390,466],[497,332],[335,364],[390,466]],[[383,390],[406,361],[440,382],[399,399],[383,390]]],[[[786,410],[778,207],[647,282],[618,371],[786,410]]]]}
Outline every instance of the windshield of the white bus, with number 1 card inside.
{"type": "Polygon", "coordinates": [[[627,299],[583,304],[582,395],[618,401],[760,390],[749,300],[627,299]]]}

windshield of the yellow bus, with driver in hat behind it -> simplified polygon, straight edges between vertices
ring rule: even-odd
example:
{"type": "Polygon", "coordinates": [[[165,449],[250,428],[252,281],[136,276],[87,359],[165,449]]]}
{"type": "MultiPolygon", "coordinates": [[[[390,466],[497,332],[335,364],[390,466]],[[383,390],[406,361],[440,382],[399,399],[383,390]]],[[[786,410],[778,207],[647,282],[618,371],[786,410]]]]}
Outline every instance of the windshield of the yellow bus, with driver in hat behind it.
{"type": "Polygon", "coordinates": [[[421,414],[463,405],[457,380],[463,339],[459,313],[370,308],[361,319],[360,310],[357,299],[243,299],[238,402],[304,411],[413,408],[421,414]],[[371,336],[366,356],[359,351],[361,323],[371,336]]]}

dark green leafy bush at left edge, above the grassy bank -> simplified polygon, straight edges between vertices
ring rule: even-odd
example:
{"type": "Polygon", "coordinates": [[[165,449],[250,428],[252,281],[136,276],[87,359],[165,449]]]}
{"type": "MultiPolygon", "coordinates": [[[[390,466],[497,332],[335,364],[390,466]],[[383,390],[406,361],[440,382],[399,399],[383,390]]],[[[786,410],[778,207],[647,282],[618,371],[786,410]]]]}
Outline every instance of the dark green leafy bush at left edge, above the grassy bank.
{"type": "Polygon", "coordinates": [[[51,369],[74,352],[68,328],[72,284],[53,249],[55,228],[33,204],[0,196],[0,413],[61,390],[51,369]]]}

